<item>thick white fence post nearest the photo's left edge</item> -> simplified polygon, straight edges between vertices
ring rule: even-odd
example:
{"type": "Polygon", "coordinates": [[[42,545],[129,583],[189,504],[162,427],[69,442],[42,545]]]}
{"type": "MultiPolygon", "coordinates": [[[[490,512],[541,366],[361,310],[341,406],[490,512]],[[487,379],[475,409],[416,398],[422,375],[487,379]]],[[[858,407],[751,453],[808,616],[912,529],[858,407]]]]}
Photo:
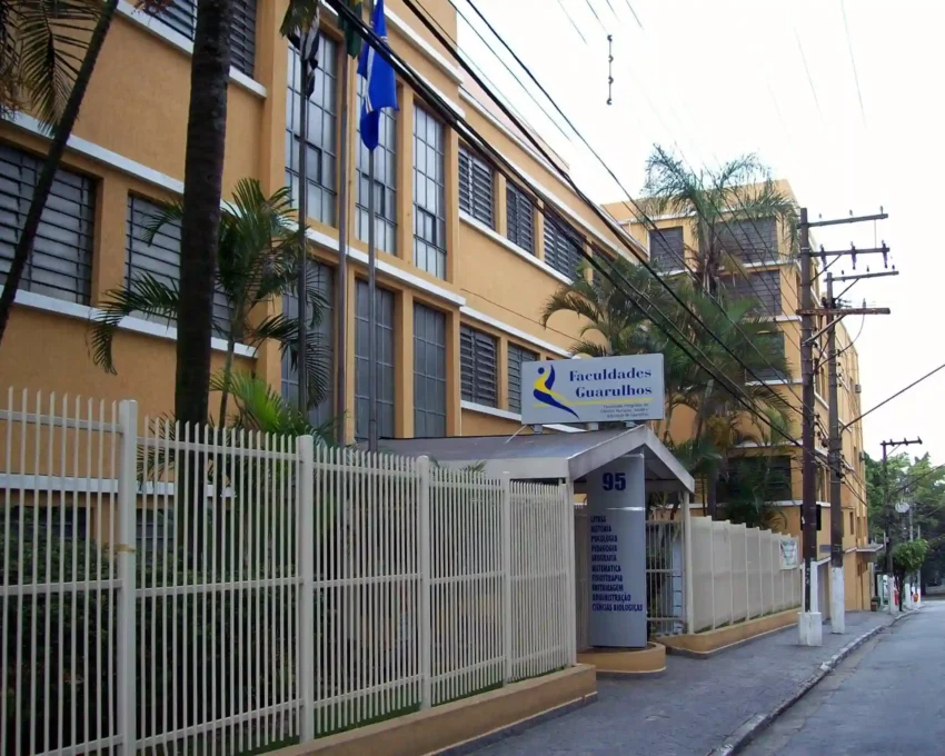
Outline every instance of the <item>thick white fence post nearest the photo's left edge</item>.
{"type": "Polygon", "coordinates": [[[135,623],[137,574],[136,499],[138,497],[138,402],[118,405],[118,427],[121,434],[118,460],[118,735],[120,756],[133,756],[138,750],[136,717],[138,694],[136,657],[138,639],[135,623]]]}

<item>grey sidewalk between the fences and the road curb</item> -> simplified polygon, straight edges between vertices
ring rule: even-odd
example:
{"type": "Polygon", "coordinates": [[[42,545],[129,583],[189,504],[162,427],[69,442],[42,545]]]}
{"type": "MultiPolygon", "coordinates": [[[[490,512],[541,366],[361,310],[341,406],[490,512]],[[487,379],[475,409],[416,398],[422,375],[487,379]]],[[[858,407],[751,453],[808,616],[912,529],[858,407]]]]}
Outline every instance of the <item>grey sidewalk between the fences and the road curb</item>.
{"type": "Polygon", "coordinates": [[[846,615],[846,634],[824,626],[824,645],[797,645],[797,627],[700,660],[667,656],[654,679],[598,679],[598,702],[488,746],[483,756],[704,756],[747,719],[794,694],[824,662],[888,614],[846,615]]]}

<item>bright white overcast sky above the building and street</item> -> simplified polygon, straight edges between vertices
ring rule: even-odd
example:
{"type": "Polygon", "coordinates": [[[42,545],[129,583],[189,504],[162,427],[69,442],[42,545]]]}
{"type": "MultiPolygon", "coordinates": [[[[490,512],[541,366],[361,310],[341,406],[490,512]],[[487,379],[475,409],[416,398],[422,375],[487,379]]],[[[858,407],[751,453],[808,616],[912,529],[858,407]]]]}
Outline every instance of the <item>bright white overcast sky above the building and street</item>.
{"type": "MultiPolygon", "coordinates": [[[[455,2],[475,19],[465,0],[455,2]]],[[[937,308],[945,304],[945,256],[931,246],[939,231],[935,187],[945,176],[945,2],[630,0],[640,29],[627,0],[609,0],[616,16],[607,0],[560,0],[587,44],[558,0],[476,2],[631,192],[639,191],[646,157],[659,142],[695,168],[757,152],[776,178],[790,182],[812,219],[885,208],[891,217],[875,228],[862,223],[816,233],[826,249],[885,240],[891,263],[901,270],[897,278],[862,281],[849,294],[857,304],[866,298],[893,310],[871,316],[856,345],[864,410],[945,361],[945,317],[937,308]],[[606,34],[588,2],[614,36],[609,107],[606,34]]],[[[459,40],[566,157],[581,188],[599,201],[625,199],[578,139],[564,139],[461,19],[459,40]]],[[[490,47],[526,80],[498,42],[490,39],[490,47]]],[[[882,269],[879,256],[869,256],[858,258],[857,272],[867,265],[882,269]]],[[[834,270],[842,267],[850,272],[848,261],[834,270]]],[[[861,320],[849,318],[853,335],[861,320]]],[[[924,447],[908,450],[945,461],[943,389],[945,370],[866,418],[867,451],[876,457],[883,439],[921,436],[924,447]]]]}

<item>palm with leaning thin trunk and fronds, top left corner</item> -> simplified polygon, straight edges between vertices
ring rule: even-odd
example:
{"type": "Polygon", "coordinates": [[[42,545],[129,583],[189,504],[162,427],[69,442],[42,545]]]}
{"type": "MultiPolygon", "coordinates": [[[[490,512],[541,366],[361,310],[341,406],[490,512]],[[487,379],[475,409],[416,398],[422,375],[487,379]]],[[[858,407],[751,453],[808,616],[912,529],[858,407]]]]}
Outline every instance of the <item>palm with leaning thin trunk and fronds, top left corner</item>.
{"type": "MultiPolygon", "coordinates": [[[[147,4],[158,0],[148,0],[147,4]]],[[[0,294],[0,344],[118,0],[0,2],[0,116],[32,106],[52,143],[0,294]],[[88,40],[86,32],[91,30],[88,40]]]]}

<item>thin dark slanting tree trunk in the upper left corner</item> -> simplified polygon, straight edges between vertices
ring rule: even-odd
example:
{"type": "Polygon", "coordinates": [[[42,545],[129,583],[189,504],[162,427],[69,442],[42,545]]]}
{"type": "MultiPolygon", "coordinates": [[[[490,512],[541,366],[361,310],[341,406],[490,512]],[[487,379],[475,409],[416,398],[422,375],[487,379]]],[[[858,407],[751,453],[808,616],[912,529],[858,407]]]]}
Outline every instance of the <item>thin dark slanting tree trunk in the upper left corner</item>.
{"type": "Polygon", "coordinates": [[[99,20],[89,39],[89,47],[86,49],[86,57],[82,59],[79,72],[76,74],[72,91],[69,92],[69,99],[66,102],[62,116],[54,126],[52,143],[49,146],[49,153],[46,156],[46,160],[43,160],[36,191],[33,191],[32,199],[30,200],[27,220],[23,223],[20,238],[17,240],[17,248],[13,251],[13,260],[10,263],[10,271],[7,273],[3,294],[0,295],[0,345],[3,342],[3,335],[7,332],[7,324],[10,320],[10,311],[17,298],[17,290],[20,288],[20,280],[23,277],[23,271],[32,252],[42,211],[46,208],[46,201],[49,199],[49,192],[52,189],[52,180],[56,178],[56,171],[59,169],[62,155],[66,152],[66,143],[69,141],[69,137],[72,136],[72,128],[79,118],[79,109],[82,107],[86,90],[89,88],[89,81],[92,78],[92,71],[94,71],[99,52],[101,52],[102,44],[105,44],[105,38],[111,27],[111,20],[115,18],[116,8],[118,8],[118,0],[108,0],[102,6],[99,20]]]}

